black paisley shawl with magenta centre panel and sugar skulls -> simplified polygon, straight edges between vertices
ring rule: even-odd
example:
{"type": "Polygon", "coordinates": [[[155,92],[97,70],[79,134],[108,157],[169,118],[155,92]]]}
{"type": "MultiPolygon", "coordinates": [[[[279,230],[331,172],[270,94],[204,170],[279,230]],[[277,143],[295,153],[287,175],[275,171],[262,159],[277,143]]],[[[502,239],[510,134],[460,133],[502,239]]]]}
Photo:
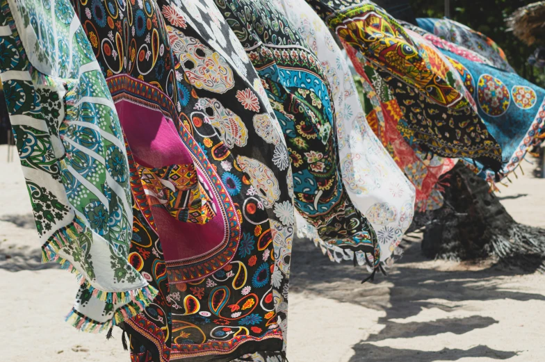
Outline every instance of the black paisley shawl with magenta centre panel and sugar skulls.
{"type": "Polygon", "coordinates": [[[74,6],[127,136],[129,259],[161,291],[124,323],[131,359],[282,355],[291,168],[240,42],[211,1],[74,6]]]}

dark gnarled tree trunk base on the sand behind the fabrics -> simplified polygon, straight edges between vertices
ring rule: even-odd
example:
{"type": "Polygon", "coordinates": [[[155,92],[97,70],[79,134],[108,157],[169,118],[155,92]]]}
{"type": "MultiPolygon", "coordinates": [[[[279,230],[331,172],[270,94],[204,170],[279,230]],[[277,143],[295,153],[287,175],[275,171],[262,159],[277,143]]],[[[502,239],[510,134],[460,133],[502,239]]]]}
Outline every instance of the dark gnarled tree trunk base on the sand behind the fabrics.
{"type": "Polygon", "coordinates": [[[423,254],[458,261],[492,256],[545,271],[545,230],[515,222],[488,183],[464,165],[458,163],[449,174],[444,206],[415,216],[412,229],[425,226],[423,254]]]}

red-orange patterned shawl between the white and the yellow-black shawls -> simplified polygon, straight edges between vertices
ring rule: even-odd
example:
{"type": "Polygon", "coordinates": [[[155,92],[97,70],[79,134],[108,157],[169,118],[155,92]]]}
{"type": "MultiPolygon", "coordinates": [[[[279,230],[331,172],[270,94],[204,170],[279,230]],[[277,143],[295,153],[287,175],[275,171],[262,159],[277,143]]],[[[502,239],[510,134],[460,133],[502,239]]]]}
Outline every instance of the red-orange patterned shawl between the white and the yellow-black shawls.
{"type": "Polygon", "coordinates": [[[406,124],[405,107],[400,106],[396,98],[398,92],[404,88],[396,87],[396,83],[392,86],[384,81],[379,69],[370,63],[362,65],[361,58],[357,58],[355,49],[349,45],[345,44],[345,50],[357,74],[361,76],[366,119],[382,145],[414,185],[416,209],[424,211],[441,208],[444,199],[439,178],[454,167],[455,160],[422,152],[410,138],[407,138],[407,133],[404,133],[400,126],[406,124]]]}

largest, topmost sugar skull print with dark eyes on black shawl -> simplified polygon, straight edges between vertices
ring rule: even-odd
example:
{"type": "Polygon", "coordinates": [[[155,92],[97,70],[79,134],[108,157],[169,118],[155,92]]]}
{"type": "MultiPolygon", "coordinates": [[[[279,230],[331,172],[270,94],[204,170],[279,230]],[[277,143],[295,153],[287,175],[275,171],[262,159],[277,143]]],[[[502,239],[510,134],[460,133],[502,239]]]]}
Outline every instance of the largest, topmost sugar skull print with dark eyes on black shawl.
{"type": "Polygon", "coordinates": [[[233,71],[225,58],[172,26],[167,26],[167,30],[172,52],[179,58],[189,83],[215,93],[233,88],[233,71]]]}

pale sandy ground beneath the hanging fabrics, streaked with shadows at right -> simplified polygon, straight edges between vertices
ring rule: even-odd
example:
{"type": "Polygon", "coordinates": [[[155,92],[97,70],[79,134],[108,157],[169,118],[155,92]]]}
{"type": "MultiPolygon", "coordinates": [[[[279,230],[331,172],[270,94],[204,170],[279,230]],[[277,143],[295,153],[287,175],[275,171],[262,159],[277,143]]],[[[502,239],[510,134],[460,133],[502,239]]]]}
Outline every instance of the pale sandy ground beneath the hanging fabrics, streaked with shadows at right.
{"type": "MultiPolygon", "coordinates": [[[[120,332],[77,332],[63,322],[74,277],[40,264],[29,197],[16,159],[0,146],[0,361],[129,361],[120,332]]],[[[501,188],[519,222],[545,227],[545,180],[533,166],[501,188]]],[[[545,275],[482,263],[429,261],[418,235],[389,277],[330,263],[307,240],[292,257],[291,362],[545,361],[545,275]]],[[[412,241],[410,241],[412,240],[412,241]]]]}

